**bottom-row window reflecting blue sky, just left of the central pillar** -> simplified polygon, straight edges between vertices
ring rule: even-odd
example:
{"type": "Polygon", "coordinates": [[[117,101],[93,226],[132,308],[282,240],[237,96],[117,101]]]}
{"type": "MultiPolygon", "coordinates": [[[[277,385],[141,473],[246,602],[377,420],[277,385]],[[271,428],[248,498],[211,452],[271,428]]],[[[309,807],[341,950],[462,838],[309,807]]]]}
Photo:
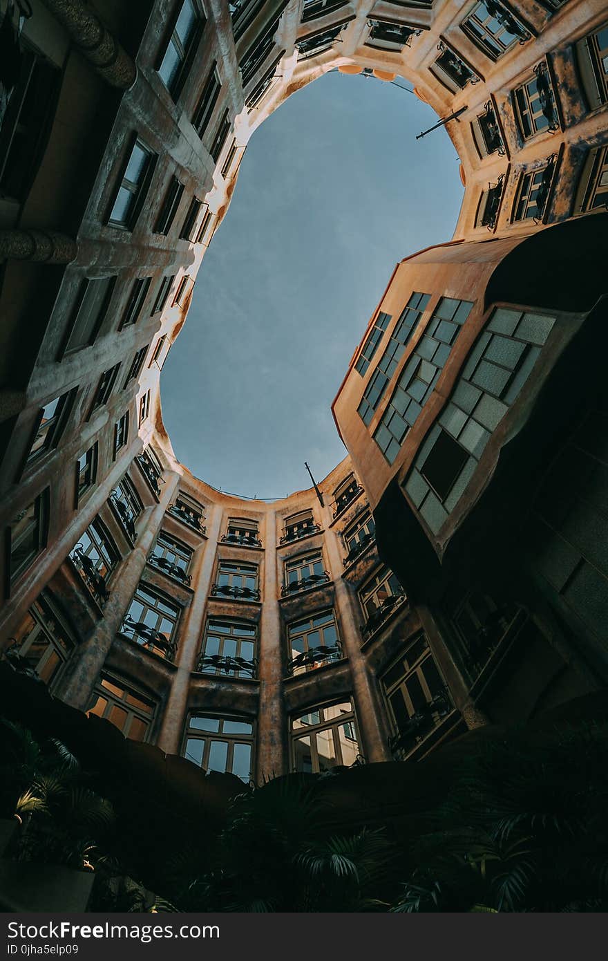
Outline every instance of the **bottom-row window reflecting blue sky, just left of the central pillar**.
{"type": "Polygon", "coordinates": [[[192,714],[183,756],[209,771],[232,774],[246,783],[253,776],[254,723],[244,718],[192,714]]]}

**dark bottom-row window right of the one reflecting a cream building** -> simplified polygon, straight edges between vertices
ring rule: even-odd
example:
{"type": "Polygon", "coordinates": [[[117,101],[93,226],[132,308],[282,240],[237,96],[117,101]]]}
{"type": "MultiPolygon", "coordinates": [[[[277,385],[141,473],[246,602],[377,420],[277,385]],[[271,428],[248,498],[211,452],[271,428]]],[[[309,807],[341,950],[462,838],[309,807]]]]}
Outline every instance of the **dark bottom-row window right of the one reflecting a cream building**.
{"type": "Polygon", "coordinates": [[[396,759],[403,760],[452,709],[425,637],[401,654],[382,678],[382,686],[395,731],[391,747],[396,759]]]}

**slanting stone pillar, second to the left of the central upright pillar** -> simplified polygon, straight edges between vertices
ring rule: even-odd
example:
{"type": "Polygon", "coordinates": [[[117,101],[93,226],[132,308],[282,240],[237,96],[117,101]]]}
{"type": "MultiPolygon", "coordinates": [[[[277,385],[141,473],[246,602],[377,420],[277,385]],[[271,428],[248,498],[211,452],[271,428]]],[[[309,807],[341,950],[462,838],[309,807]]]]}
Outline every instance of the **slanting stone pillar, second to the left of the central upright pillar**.
{"type": "Polygon", "coordinates": [[[61,701],[71,704],[72,707],[86,709],[91,691],[143,574],[146,557],[156,540],[164,512],[173,498],[179,479],[179,475],[174,472],[167,472],[165,475],[160,503],[152,508],[145,527],[141,526],[133,551],[114,574],[103,620],[88,640],[78,646],[70,659],[69,678],[61,691],[61,701]]]}

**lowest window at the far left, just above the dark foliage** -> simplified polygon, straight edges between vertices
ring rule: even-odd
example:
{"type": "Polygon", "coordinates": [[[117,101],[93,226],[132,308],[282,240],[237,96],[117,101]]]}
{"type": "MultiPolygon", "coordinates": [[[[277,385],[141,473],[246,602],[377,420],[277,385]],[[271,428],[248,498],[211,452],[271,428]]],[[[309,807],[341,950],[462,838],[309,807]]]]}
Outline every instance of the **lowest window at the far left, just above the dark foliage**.
{"type": "Polygon", "coordinates": [[[52,691],[57,688],[63,665],[74,647],[74,638],[62,623],[49,593],[42,591],[15,630],[14,646],[7,655],[10,658],[14,651],[52,691]]]}

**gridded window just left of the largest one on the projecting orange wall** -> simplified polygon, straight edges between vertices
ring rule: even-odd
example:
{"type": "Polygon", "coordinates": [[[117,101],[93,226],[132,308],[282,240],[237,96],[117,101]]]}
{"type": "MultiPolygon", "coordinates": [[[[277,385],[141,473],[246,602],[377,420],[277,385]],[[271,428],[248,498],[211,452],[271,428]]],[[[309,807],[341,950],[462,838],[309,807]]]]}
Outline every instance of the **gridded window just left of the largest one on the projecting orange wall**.
{"type": "Polygon", "coordinates": [[[374,433],[374,440],[389,462],[394,463],[401,444],[413,427],[435,383],[473,304],[470,301],[442,297],[401,372],[401,377],[374,433]]]}

